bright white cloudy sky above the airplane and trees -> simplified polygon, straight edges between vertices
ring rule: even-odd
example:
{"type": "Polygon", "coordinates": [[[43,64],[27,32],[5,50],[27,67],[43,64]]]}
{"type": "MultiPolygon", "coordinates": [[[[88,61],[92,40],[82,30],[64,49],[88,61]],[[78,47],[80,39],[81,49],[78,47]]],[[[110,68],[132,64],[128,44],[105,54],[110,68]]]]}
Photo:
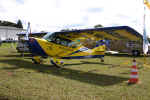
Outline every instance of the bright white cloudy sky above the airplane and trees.
{"type": "MultiPolygon", "coordinates": [[[[32,32],[62,29],[130,26],[142,34],[143,0],[0,0],[0,20],[17,22],[32,32]]],[[[150,10],[146,9],[146,30],[150,36],[150,10]]]]}

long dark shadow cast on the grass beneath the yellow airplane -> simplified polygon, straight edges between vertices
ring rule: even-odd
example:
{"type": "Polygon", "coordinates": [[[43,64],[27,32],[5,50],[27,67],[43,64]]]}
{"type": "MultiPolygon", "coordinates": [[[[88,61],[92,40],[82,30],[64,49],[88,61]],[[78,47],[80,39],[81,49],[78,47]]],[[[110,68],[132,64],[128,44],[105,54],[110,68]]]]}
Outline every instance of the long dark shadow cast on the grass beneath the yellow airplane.
{"type": "Polygon", "coordinates": [[[128,78],[120,77],[120,76],[112,76],[106,74],[96,74],[92,72],[83,72],[79,70],[73,70],[69,68],[56,68],[52,65],[35,65],[29,61],[24,60],[16,60],[16,59],[9,59],[9,60],[0,60],[2,63],[7,63],[10,65],[15,65],[17,67],[12,68],[4,68],[5,70],[16,70],[20,68],[24,69],[32,69],[36,70],[40,73],[51,74],[59,77],[64,77],[67,79],[72,79],[76,81],[80,81],[83,83],[94,84],[94,85],[101,85],[101,86],[108,86],[120,83],[122,81],[128,80],[128,78]]]}

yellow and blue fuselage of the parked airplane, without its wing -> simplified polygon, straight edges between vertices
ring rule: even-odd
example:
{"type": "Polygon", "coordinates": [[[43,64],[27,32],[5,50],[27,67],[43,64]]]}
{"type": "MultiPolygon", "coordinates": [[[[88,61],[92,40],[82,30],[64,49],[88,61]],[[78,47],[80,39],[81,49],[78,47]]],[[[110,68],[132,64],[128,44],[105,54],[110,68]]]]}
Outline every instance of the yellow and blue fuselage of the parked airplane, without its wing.
{"type": "Polygon", "coordinates": [[[51,35],[44,38],[29,38],[29,48],[33,55],[60,59],[99,58],[105,53],[105,43],[102,40],[89,48],[74,43],[71,39],[51,35]]]}

